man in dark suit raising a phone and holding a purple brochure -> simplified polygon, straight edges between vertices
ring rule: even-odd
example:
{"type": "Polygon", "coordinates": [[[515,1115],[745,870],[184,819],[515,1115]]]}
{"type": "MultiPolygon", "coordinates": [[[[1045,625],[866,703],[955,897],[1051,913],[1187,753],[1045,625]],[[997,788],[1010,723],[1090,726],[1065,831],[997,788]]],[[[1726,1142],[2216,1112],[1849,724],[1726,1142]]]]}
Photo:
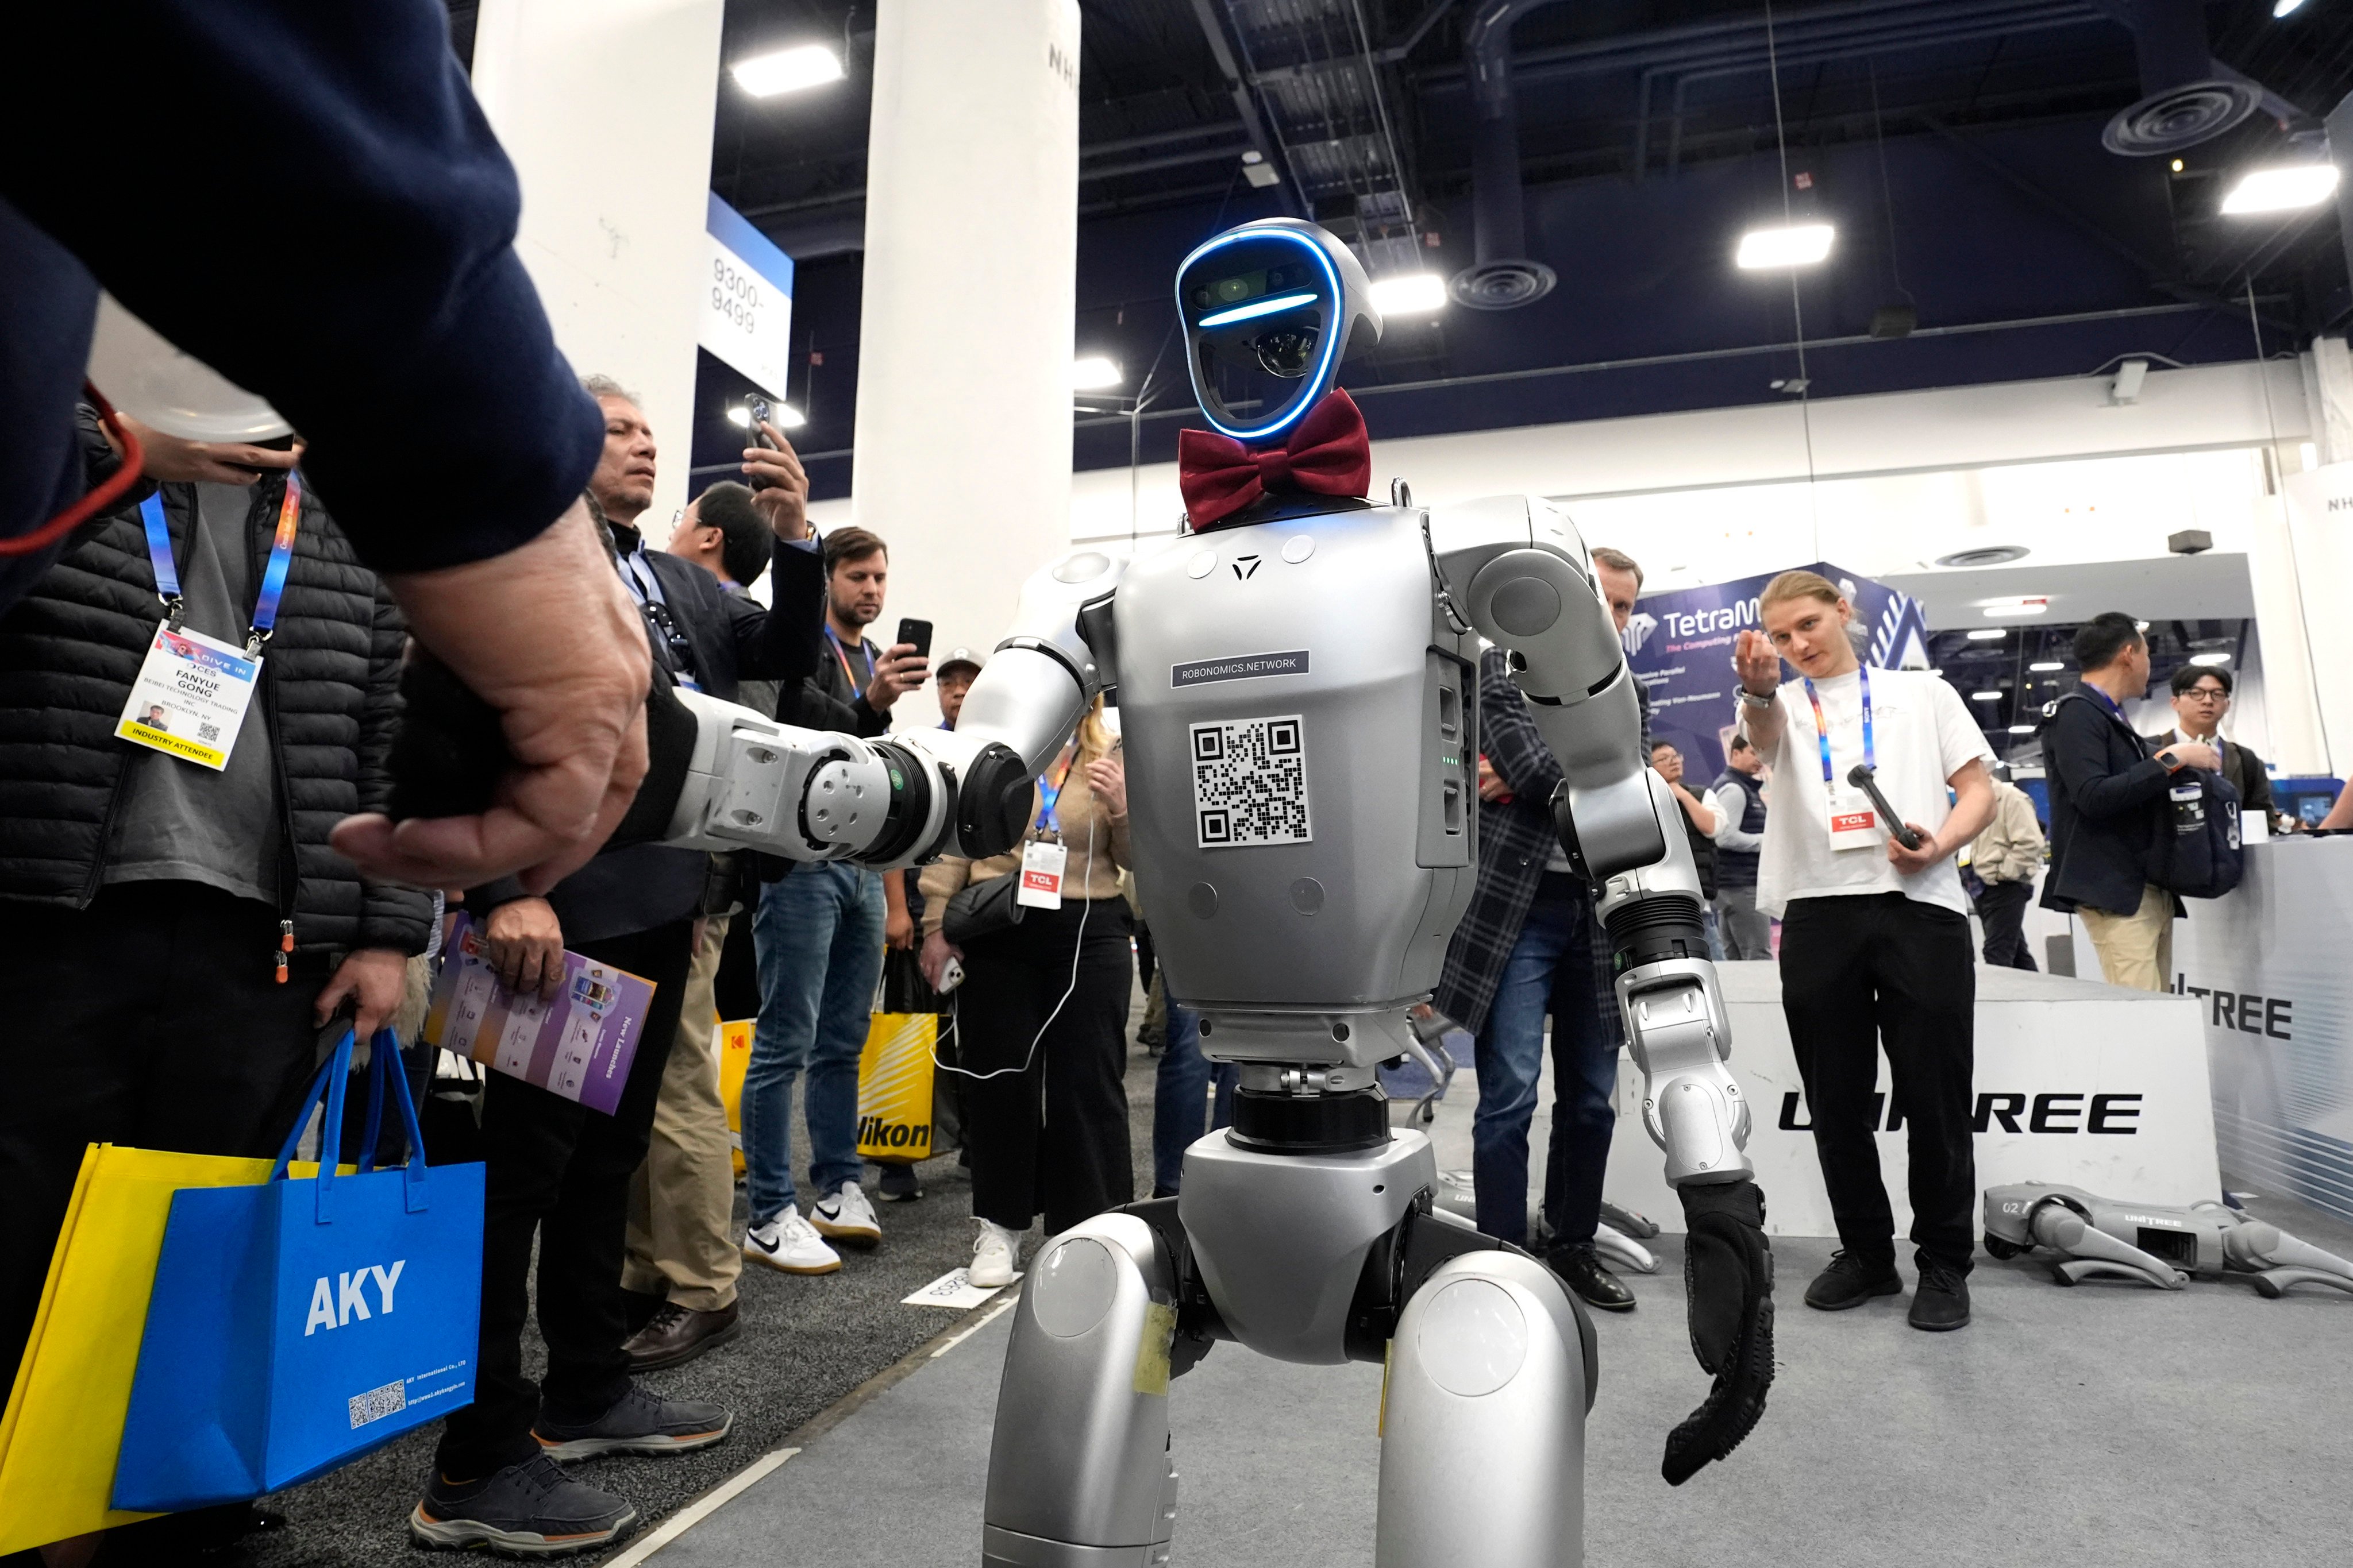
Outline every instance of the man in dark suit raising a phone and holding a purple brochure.
{"type": "MultiPolygon", "coordinates": [[[[755,477],[772,482],[762,491],[779,536],[769,611],[722,595],[701,567],[645,548],[635,524],[654,501],[654,433],[616,383],[591,376],[584,386],[605,414],[605,454],[588,498],[612,538],[614,569],[645,616],[654,665],[718,698],[734,698],[746,677],[798,686],[816,668],[824,578],[807,548],[807,480],[791,451],[746,454],[758,463],[755,477]]],[[[489,1077],[475,1401],[445,1425],[426,1493],[409,1516],[409,1535],[421,1544],[527,1552],[553,1535],[614,1540],[635,1509],[555,1472],[551,1460],[680,1453],[718,1443],[734,1427],[725,1406],[666,1399],[638,1385],[624,1349],[628,1190],[680,1034],[708,872],[704,851],[640,844],[598,856],[546,898],[525,896],[515,879],[466,893],[468,914],[482,922],[482,952],[508,987],[553,994],[569,947],[652,980],[654,1001],[609,1117],[520,1079],[489,1077]],[[534,1234],[539,1333],[548,1347],[536,1385],[522,1368],[534,1234]]],[[[718,1321],[689,1326],[699,1333],[673,1335],[682,1342],[668,1349],[692,1352],[734,1321],[732,1312],[706,1319],[718,1321]]]]}

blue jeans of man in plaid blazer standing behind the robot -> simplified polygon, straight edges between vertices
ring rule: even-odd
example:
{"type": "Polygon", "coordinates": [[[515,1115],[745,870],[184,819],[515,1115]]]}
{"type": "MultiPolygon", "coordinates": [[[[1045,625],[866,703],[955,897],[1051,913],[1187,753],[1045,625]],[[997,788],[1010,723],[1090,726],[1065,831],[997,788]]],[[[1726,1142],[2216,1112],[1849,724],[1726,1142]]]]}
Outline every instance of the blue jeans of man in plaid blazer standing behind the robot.
{"type": "Polygon", "coordinates": [[[1617,1112],[1614,1001],[1595,957],[1593,896],[1562,872],[1546,872],[1504,961],[1487,1023],[1478,1032],[1478,1117],[1471,1121],[1471,1175],[1478,1227],[1527,1244],[1527,1128],[1544,1070],[1544,1016],[1553,1016],[1553,1150],[1544,1208],[1555,1241],[1593,1241],[1602,1168],[1617,1112]]]}

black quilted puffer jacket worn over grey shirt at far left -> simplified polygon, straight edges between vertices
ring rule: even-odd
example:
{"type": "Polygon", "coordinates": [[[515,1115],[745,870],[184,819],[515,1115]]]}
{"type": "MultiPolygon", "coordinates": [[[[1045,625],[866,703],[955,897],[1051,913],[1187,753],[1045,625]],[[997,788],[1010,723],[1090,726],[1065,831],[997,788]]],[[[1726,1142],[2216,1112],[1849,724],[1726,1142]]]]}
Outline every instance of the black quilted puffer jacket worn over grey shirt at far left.
{"type": "MultiPolygon", "coordinates": [[[[162,496],[172,543],[186,559],[195,491],[165,484],[162,496]]],[[[282,498],[282,477],[254,484],[245,534],[256,583],[282,498]]],[[[56,567],[0,618],[0,898],[80,910],[96,896],[132,752],[115,738],[115,719],[160,618],[136,505],[85,524],[56,567]]],[[[384,583],[360,564],[318,496],[304,491],[301,531],[254,696],[278,771],[278,886],[292,905],[285,914],[294,922],[296,954],[424,952],[431,898],[362,884],[327,846],[339,820],[384,809],[405,637],[384,583]]],[[[247,724],[247,745],[256,729],[247,724]]]]}

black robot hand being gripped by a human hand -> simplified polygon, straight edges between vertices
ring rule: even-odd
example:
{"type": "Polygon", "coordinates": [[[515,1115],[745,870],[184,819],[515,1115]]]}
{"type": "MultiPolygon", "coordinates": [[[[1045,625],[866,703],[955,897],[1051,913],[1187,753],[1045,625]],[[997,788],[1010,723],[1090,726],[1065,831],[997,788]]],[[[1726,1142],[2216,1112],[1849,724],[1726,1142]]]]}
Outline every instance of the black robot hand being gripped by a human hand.
{"type": "MultiPolygon", "coordinates": [[[[499,712],[459,682],[449,665],[424,651],[400,672],[400,698],[388,816],[398,823],[412,816],[487,811],[499,776],[513,762],[499,712]]],[[[664,837],[678,792],[687,783],[687,764],[694,759],[694,715],[678,701],[678,689],[661,670],[654,670],[645,698],[645,783],[638,785],[628,816],[605,842],[607,851],[664,837]]]]}

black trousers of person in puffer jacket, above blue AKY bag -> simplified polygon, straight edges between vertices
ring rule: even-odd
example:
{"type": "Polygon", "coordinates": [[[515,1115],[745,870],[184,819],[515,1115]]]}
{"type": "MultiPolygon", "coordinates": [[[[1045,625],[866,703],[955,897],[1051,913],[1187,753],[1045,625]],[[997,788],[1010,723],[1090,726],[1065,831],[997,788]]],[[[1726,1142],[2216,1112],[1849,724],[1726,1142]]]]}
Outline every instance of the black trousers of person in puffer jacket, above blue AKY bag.
{"type": "MultiPolygon", "coordinates": [[[[200,882],[87,910],[0,903],[0,1373],[40,1312],[82,1150],[268,1157],[318,1063],[322,961],[278,985],[278,912],[200,882]]],[[[346,1112],[358,1119],[358,1112],[346,1112]]]]}

